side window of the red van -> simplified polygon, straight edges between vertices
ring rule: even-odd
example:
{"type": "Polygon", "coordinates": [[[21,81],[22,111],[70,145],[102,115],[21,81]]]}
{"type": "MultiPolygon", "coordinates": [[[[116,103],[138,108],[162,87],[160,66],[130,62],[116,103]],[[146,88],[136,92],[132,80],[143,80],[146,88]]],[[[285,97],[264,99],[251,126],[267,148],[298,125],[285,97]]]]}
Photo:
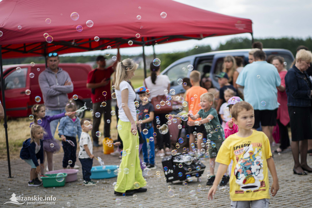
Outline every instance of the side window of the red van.
{"type": "Polygon", "coordinates": [[[28,68],[22,68],[20,72],[13,70],[13,72],[4,79],[5,89],[26,87],[27,70],[28,68]]]}

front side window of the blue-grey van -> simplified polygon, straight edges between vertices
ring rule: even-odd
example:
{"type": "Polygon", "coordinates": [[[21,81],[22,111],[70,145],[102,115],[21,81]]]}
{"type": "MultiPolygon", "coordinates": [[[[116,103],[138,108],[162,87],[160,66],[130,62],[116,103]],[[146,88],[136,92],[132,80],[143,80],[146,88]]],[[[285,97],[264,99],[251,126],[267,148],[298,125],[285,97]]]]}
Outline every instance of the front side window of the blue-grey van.
{"type": "Polygon", "coordinates": [[[163,73],[169,77],[170,86],[178,85],[177,83],[178,79],[180,78],[183,79],[184,77],[187,77],[188,75],[187,67],[189,64],[190,62],[179,63],[178,65],[175,65],[170,69],[168,69],[167,72],[163,73]],[[185,70],[182,69],[183,67],[185,68],[185,70]]]}

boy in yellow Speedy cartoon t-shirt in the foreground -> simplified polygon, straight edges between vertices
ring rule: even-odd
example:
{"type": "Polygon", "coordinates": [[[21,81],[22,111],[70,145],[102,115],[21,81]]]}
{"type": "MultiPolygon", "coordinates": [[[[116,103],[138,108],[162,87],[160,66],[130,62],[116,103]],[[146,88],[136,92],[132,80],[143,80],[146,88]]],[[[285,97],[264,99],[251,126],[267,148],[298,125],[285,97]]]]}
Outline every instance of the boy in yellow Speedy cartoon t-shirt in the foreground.
{"type": "Polygon", "coordinates": [[[270,185],[268,168],[273,178],[271,194],[279,190],[274,160],[268,137],[261,131],[252,130],[253,107],[245,101],[237,102],[231,109],[237,133],[227,137],[217,154],[219,168],[208,200],[213,198],[227,166],[233,160],[230,177],[231,207],[269,207],[270,185]]]}

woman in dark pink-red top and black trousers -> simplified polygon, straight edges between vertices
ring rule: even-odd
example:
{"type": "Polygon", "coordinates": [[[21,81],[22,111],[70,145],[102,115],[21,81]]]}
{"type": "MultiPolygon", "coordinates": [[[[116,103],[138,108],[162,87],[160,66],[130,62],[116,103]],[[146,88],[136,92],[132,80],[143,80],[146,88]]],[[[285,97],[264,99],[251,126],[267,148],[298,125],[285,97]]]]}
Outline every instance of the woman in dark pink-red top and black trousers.
{"type": "Polygon", "coordinates": [[[288,107],[287,107],[287,95],[285,92],[285,75],[287,70],[284,68],[284,58],[280,56],[275,56],[272,58],[272,64],[276,67],[279,75],[280,75],[280,85],[283,87],[282,89],[278,89],[277,91],[277,102],[280,103],[280,106],[277,108],[277,124],[280,129],[280,147],[274,150],[275,153],[282,152],[287,147],[290,146],[289,136],[288,136],[288,124],[290,121],[288,115],[288,107]]]}

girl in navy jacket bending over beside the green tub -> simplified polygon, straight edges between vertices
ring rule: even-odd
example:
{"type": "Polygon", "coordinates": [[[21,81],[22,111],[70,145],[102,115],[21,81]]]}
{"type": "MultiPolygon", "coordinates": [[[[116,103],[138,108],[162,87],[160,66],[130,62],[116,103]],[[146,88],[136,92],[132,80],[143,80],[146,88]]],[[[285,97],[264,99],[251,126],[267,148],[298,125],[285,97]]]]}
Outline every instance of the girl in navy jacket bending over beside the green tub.
{"type": "Polygon", "coordinates": [[[20,157],[32,167],[30,170],[30,181],[28,182],[28,186],[41,185],[41,181],[38,179],[38,174],[39,172],[43,174],[44,171],[42,142],[44,133],[46,132],[41,126],[32,124],[30,127],[30,138],[23,142],[20,157]],[[40,166],[38,159],[40,159],[40,166]]]}

